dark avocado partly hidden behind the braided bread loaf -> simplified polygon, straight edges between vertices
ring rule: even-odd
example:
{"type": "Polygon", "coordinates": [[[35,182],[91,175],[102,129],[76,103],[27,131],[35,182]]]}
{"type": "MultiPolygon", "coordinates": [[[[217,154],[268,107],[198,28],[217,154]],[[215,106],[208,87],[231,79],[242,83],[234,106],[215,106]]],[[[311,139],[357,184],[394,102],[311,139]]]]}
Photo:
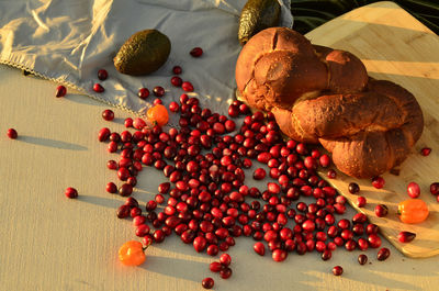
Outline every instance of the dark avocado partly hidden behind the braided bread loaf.
{"type": "Polygon", "coordinates": [[[280,14],[281,5],[277,0],[248,0],[240,12],[239,43],[245,45],[258,32],[278,26],[280,14]]]}

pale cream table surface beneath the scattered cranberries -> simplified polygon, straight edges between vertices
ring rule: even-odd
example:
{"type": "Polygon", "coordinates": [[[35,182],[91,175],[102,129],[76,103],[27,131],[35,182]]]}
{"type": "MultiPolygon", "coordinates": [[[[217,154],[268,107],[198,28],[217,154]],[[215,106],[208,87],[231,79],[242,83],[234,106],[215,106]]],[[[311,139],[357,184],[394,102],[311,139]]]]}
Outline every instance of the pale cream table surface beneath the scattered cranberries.
{"type": "MultiPolygon", "coordinates": [[[[438,257],[410,259],[385,240],[391,257],[378,261],[370,249],[369,262],[360,266],[361,251],[345,249],[329,261],[314,251],[278,264],[239,237],[227,251],[234,275],[223,280],[209,270],[214,258],[172,235],[148,248],[143,266],[122,266],[117,249],[136,237],[131,222],[115,216],[124,199],[105,192],[106,182],[116,180],[105,164],[116,155],[106,153],[97,133],[104,126],[123,131],[130,114],[113,109],[115,121],[105,122],[105,104],[71,91],[57,99],[55,88],[0,66],[0,290],[202,290],[205,277],[215,279],[215,290],[437,290],[438,257]],[[16,141],[5,136],[10,127],[16,141]],[[78,189],[77,200],[64,195],[67,187],[78,189]],[[341,277],[330,272],[336,265],[345,269],[341,277]]],[[[145,168],[134,197],[144,204],[162,181],[145,168]]],[[[346,216],[353,213],[349,208],[346,216]]]]}

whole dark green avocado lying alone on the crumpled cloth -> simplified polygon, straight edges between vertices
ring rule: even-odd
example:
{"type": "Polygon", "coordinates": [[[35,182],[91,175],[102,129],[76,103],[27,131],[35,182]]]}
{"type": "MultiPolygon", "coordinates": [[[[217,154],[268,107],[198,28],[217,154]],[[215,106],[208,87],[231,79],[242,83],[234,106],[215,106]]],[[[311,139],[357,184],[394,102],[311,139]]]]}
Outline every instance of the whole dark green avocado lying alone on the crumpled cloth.
{"type": "Polygon", "coordinates": [[[171,42],[157,30],[145,30],[133,34],[114,57],[114,67],[132,76],[156,71],[168,59],[171,42]]]}

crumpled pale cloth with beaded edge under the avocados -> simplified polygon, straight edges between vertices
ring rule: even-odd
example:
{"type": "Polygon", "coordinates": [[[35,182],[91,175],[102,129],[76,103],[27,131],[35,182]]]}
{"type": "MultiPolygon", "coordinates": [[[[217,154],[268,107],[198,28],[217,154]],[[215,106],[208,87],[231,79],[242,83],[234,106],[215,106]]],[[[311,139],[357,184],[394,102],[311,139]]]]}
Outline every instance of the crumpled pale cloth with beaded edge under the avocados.
{"type": "MultiPolygon", "coordinates": [[[[281,26],[292,27],[290,0],[279,0],[281,26]]],[[[164,103],[178,100],[181,88],[170,85],[172,67],[191,81],[202,105],[226,113],[235,91],[235,63],[240,10],[246,0],[10,0],[0,1],[0,64],[35,72],[132,112],[142,113],[155,99],[137,91],[166,89],[164,103]],[[171,41],[167,63],[156,72],[132,77],[120,74],[113,57],[134,33],[156,29],[171,41]],[[200,46],[204,54],[189,52],[200,46]],[[109,78],[98,79],[104,68],[109,78]],[[94,82],[105,91],[95,93],[94,82]]]]}

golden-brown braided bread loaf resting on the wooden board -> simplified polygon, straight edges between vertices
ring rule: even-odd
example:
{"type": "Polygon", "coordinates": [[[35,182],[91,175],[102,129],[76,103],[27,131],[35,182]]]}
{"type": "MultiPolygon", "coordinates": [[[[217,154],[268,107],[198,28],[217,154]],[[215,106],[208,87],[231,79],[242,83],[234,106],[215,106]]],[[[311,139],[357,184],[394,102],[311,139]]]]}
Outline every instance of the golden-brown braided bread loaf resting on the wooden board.
{"type": "Polygon", "coordinates": [[[415,97],[368,76],[349,52],[312,45],[286,27],[267,29],[244,46],[236,82],[250,107],[271,111],[291,138],[320,143],[342,172],[371,178],[403,163],[420,137],[415,97]]]}

